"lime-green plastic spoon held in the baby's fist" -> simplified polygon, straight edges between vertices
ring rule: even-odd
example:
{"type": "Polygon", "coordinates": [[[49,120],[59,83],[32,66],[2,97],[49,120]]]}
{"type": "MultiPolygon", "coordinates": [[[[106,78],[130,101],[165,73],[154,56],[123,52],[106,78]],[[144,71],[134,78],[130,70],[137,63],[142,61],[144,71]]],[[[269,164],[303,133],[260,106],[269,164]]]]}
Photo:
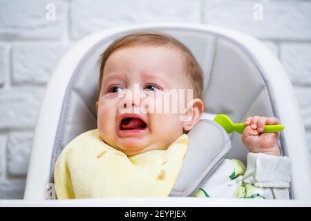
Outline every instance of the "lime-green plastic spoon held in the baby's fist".
{"type": "MultiPolygon", "coordinates": [[[[214,122],[217,122],[227,133],[232,133],[232,131],[236,131],[238,133],[243,134],[244,128],[246,127],[244,123],[234,124],[232,120],[227,115],[217,115],[214,118],[214,122]]],[[[283,131],[284,126],[282,124],[275,124],[275,125],[265,125],[265,130],[262,133],[275,133],[279,131],[283,131]]]]}

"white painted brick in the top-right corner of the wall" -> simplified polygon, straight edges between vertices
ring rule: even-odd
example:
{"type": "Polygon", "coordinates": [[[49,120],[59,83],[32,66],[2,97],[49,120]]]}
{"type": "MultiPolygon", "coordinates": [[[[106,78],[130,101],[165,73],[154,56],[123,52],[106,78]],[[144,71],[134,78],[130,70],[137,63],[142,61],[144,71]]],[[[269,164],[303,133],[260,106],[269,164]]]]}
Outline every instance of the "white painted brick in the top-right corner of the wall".
{"type": "Polygon", "coordinates": [[[309,40],[310,12],[310,1],[211,0],[206,1],[204,21],[241,30],[261,39],[309,40]],[[253,19],[256,3],[263,7],[263,20],[253,19]]]}

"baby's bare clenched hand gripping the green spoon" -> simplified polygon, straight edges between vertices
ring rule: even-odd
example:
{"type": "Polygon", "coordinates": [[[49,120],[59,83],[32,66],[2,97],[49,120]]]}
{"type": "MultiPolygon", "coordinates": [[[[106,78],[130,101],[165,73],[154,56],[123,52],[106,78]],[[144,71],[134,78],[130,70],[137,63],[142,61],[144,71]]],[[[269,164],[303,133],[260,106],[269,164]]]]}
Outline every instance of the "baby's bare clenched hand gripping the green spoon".
{"type": "Polygon", "coordinates": [[[262,133],[266,124],[280,124],[279,119],[276,117],[247,117],[244,124],[246,128],[243,131],[242,142],[247,146],[249,152],[280,155],[279,133],[262,133]]]}

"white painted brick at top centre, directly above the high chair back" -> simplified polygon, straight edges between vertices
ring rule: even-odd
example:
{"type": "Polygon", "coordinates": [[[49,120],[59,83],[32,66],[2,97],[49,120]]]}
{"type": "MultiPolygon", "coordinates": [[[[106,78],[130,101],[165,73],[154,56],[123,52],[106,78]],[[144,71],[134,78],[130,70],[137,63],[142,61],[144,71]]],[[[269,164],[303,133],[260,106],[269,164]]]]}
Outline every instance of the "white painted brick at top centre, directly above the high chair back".
{"type": "Polygon", "coordinates": [[[146,22],[200,22],[200,0],[74,1],[70,33],[80,38],[96,30],[146,22]],[[155,3],[156,2],[156,3],[155,3]]]}

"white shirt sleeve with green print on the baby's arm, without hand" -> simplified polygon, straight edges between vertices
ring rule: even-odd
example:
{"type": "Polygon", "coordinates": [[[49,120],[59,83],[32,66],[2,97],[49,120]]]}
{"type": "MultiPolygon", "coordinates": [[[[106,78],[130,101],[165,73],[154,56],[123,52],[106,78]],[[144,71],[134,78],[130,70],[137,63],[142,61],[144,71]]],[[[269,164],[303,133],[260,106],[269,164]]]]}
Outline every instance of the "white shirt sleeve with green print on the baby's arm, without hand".
{"type": "Polygon", "coordinates": [[[289,199],[291,160],[248,153],[247,167],[225,159],[192,196],[205,198],[289,199]]]}

